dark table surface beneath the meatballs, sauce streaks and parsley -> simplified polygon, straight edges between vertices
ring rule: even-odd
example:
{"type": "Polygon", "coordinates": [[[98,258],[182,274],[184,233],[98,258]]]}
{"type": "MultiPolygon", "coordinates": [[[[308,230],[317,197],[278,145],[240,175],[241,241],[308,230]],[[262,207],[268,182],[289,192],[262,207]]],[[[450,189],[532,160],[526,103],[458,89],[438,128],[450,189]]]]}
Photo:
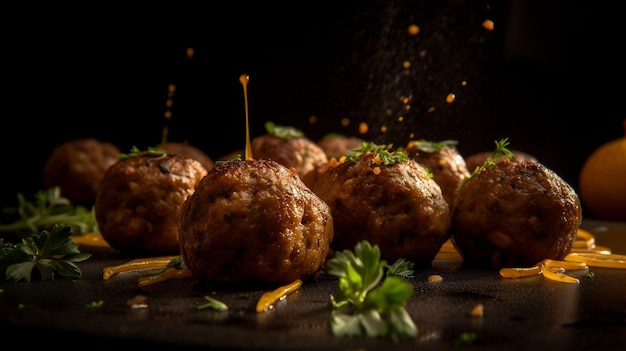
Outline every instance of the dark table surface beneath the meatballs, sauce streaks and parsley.
{"type": "MultiPolygon", "coordinates": [[[[596,244],[626,254],[626,223],[586,220],[582,227],[596,244]]],[[[498,271],[468,269],[458,261],[435,260],[410,279],[414,293],[406,308],[418,338],[393,343],[370,338],[341,338],[330,333],[330,295],[334,279],[305,282],[266,312],[255,311],[268,289],[208,286],[175,279],[140,287],[141,273],[104,280],[106,266],[128,261],[105,247],[86,247],[92,257],[79,263],[81,279],[0,282],[0,334],[21,337],[30,346],[72,346],[90,340],[99,346],[175,346],[231,350],[447,350],[464,333],[476,336],[472,349],[624,350],[626,347],[626,270],[591,267],[580,284],[538,275],[505,279],[498,271]],[[443,280],[428,282],[432,274],[443,280]],[[227,311],[199,310],[210,295],[227,311]],[[137,308],[129,301],[146,299],[137,308]],[[101,308],[86,306],[104,301],[101,308]],[[482,304],[484,316],[472,317],[482,304]],[[23,307],[20,307],[23,306],[23,307]]]]}

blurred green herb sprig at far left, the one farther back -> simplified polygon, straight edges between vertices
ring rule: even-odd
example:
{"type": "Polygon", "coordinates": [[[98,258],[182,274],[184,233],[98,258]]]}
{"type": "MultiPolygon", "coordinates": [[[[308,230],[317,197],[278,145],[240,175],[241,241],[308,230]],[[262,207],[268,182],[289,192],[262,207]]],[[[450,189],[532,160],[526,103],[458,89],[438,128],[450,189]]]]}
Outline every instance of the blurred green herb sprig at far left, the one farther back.
{"type": "Polygon", "coordinates": [[[91,210],[84,206],[74,206],[67,198],[61,197],[61,189],[56,186],[35,193],[34,202],[26,200],[22,193],[17,194],[20,218],[13,223],[0,224],[4,233],[38,233],[49,230],[54,225],[69,225],[75,234],[91,233],[98,230],[98,223],[91,210]]]}

